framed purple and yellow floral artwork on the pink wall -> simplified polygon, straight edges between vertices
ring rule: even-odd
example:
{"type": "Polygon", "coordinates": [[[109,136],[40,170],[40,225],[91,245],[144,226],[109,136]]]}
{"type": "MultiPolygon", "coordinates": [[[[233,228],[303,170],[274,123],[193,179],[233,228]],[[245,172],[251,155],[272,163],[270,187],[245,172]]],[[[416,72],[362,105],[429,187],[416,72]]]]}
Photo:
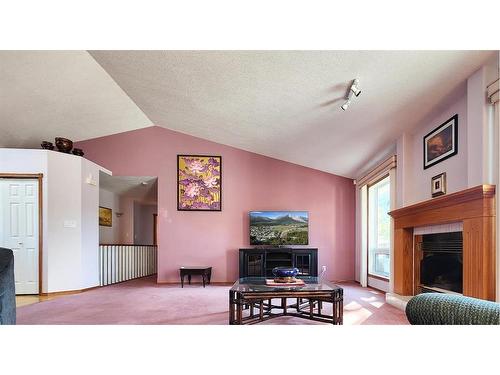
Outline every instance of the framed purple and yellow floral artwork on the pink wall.
{"type": "Polygon", "coordinates": [[[177,155],[177,210],[222,211],[222,157],[177,155]]]}

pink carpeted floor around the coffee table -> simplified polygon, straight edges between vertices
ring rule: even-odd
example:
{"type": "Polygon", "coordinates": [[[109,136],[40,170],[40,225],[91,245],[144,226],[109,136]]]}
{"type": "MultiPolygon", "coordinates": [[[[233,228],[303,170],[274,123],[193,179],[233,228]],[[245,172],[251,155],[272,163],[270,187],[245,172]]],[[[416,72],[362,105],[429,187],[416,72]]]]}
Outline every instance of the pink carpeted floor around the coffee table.
{"type": "MultiPolygon", "coordinates": [[[[344,324],[408,324],[385,295],[356,283],[344,288],[344,324]]],[[[17,324],[228,324],[230,286],[156,284],[143,278],[21,306],[17,324]]],[[[329,305],[329,304],[325,304],[329,305]]],[[[330,305],[331,306],[331,305],[330,305]]],[[[323,324],[280,317],[262,324],[323,324]]]]}

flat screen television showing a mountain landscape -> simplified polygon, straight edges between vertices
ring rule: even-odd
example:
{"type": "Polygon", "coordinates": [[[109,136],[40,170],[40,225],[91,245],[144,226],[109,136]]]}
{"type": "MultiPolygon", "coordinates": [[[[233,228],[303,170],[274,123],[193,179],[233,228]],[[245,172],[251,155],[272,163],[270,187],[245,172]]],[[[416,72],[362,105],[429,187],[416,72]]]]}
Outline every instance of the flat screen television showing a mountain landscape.
{"type": "Polygon", "coordinates": [[[308,245],[307,211],[251,211],[250,245],[308,245]]]}

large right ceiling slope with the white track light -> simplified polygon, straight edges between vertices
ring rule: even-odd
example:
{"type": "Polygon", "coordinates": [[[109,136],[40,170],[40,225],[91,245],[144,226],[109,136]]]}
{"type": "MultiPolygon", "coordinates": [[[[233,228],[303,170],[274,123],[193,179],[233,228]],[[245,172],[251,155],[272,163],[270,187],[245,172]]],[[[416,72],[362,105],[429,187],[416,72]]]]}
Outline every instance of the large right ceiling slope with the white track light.
{"type": "Polygon", "coordinates": [[[155,125],[343,176],[489,51],[91,51],[155,125]],[[348,85],[362,94],[340,109],[348,85]]]}

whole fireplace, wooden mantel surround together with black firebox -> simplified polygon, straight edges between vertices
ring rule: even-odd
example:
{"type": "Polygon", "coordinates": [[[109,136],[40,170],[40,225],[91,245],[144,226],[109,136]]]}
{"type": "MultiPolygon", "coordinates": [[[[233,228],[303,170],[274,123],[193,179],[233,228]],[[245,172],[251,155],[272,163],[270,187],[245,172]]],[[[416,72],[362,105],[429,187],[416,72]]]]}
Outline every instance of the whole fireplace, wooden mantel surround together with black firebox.
{"type": "Polygon", "coordinates": [[[389,215],[394,219],[394,293],[412,296],[432,290],[495,300],[495,186],[476,186],[389,215]],[[454,238],[414,233],[418,227],[457,222],[463,229],[454,238]],[[461,242],[460,251],[453,241],[461,242]],[[444,270],[436,270],[439,266],[444,270]]]}

